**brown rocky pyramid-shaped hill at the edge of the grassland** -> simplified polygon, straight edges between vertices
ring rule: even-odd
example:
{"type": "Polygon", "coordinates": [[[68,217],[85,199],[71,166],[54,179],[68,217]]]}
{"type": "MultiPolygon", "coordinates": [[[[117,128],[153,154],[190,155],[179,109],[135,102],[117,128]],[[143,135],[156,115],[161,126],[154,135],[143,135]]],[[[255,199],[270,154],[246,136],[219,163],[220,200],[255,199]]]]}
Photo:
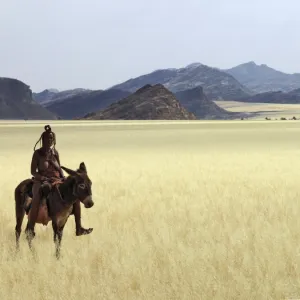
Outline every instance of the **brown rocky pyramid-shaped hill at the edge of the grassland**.
{"type": "Polygon", "coordinates": [[[104,110],[88,114],[90,120],[195,120],[163,85],[149,84],[104,110]]]}

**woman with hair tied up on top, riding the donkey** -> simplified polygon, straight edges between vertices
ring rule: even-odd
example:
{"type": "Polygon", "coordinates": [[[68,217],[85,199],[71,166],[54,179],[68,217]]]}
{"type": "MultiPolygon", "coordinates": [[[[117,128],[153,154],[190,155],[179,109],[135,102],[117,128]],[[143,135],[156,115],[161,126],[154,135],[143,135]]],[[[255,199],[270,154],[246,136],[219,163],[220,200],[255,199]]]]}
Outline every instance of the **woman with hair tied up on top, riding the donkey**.
{"type": "MultiPolygon", "coordinates": [[[[59,154],[55,149],[55,145],[56,135],[51,130],[51,127],[46,125],[45,131],[34,146],[34,153],[31,161],[31,174],[34,177],[34,183],[32,187],[33,197],[31,211],[28,216],[26,231],[33,235],[35,235],[34,226],[38,218],[39,205],[41,201],[40,187],[45,183],[53,184],[64,180],[65,178],[60,167],[59,154]],[[36,150],[35,148],[39,142],[42,142],[42,146],[36,150]]],[[[77,200],[73,205],[73,214],[75,216],[77,236],[89,234],[93,231],[93,228],[84,229],[81,226],[81,207],[79,200],[77,200]]]]}

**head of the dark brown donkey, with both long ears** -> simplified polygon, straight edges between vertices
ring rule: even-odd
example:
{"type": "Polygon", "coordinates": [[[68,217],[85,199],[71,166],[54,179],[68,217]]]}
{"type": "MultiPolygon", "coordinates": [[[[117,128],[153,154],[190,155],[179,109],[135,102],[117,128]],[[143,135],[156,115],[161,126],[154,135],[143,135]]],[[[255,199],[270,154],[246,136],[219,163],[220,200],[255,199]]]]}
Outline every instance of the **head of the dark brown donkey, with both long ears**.
{"type": "Polygon", "coordinates": [[[85,208],[91,208],[94,205],[92,199],[92,181],[88,177],[84,162],[79,165],[77,171],[63,166],[61,168],[66,171],[73,180],[73,195],[84,204],[85,208]]]}

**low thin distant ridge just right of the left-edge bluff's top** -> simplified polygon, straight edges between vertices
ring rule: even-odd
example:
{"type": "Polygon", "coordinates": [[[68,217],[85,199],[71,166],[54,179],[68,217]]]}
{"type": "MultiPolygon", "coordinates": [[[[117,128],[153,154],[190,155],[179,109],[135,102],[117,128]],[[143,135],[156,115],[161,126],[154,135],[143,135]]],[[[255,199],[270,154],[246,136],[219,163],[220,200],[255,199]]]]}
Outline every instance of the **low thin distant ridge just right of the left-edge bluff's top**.
{"type": "Polygon", "coordinates": [[[79,95],[79,94],[86,94],[91,92],[91,90],[87,89],[73,89],[73,90],[65,90],[59,92],[58,90],[53,90],[53,89],[47,89],[44,90],[40,93],[33,93],[33,98],[35,101],[41,103],[41,104],[46,104],[50,102],[55,102],[55,101],[61,101],[65,100],[67,98],[79,95]]]}

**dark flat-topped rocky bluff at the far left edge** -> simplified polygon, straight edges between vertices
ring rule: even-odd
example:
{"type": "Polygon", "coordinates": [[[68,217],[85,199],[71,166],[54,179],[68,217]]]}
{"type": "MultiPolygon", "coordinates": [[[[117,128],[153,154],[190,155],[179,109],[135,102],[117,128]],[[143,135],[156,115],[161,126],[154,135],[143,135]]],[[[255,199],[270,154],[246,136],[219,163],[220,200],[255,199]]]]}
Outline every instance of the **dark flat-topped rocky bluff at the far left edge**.
{"type": "Polygon", "coordinates": [[[25,83],[12,78],[0,78],[0,119],[55,120],[57,117],[33,100],[25,83]]]}

